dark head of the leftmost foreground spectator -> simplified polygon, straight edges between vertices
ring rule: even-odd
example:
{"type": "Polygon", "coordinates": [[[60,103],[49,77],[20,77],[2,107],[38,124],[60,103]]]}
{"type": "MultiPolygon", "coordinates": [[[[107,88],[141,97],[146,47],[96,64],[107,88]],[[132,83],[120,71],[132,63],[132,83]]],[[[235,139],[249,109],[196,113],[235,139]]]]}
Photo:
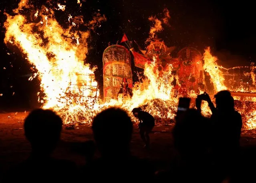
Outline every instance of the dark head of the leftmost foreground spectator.
{"type": "Polygon", "coordinates": [[[53,111],[36,109],[29,113],[24,122],[26,138],[32,151],[50,154],[60,140],[62,120],[53,111]]]}

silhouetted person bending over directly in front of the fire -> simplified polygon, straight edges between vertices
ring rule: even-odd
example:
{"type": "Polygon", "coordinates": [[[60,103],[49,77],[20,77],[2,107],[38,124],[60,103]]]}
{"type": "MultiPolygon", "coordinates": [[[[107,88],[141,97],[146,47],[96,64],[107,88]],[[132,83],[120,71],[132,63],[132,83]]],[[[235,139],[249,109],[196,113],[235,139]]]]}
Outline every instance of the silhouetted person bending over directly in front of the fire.
{"type": "Polygon", "coordinates": [[[139,119],[139,134],[141,135],[141,139],[145,143],[145,148],[149,148],[150,139],[149,139],[149,133],[152,131],[153,127],[155,126],[155,119],[154,117],[145,112],[142,111],[142,109],[134,108],[132,110],[132,113],[134,117],[139,119]]]}

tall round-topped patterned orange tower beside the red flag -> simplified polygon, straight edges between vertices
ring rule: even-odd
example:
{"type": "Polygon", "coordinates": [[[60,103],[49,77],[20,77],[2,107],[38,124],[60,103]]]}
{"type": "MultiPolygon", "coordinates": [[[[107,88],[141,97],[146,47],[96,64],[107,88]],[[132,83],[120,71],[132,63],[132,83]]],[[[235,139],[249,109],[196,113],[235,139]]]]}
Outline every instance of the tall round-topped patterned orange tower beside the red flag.
{"type": "Polygon", "coordinates": [[[131,55],[121,45],[112,45],[103,52],[103,97],[104,102],[117,99],[120,84],[127,78],[132,88],[131,55]]]}

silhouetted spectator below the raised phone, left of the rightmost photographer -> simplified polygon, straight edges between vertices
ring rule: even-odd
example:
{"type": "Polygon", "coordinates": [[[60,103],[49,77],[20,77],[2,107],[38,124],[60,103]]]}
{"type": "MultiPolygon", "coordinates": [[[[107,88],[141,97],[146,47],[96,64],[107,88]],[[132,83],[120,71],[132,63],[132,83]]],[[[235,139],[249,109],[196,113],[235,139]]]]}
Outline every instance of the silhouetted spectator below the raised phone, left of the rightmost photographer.
{"type": "Polygon", "coordinates": [[[175,123],[172,132],[179,161],[172,167],[171,181],[210,182],[209,123],[195,109],[188,109],[183,115],[182,120],[175,123]]]}

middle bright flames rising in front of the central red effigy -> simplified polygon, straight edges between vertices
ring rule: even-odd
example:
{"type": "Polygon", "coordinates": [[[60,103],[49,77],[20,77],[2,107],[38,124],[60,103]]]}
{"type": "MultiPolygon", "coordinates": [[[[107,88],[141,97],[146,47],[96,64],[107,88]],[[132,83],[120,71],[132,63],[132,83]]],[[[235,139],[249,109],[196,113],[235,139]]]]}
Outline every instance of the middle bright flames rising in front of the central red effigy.
{"type": "MultiPolygon", "coordinates": [[[[177,110],[178,98],[173,97],[173,86],[169,84],[173,81],[172,66],[170,65],[169,69],[162,73],[163,76],[160,76],[156,65],[155,63],[145,65],[144,75],[147,79],[143,80],[142,83],[135,84],[133,97],[124,100],[113,99],[103,106],[118,106],[129,111],[129,113],[133,108],[141,106],[155,117],[166,120],[173,119],[177,110]]],[[[133,116],[131,115],[131,117],[133,116]]]]}

